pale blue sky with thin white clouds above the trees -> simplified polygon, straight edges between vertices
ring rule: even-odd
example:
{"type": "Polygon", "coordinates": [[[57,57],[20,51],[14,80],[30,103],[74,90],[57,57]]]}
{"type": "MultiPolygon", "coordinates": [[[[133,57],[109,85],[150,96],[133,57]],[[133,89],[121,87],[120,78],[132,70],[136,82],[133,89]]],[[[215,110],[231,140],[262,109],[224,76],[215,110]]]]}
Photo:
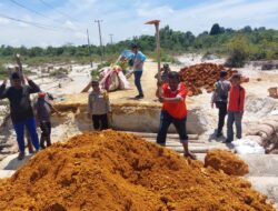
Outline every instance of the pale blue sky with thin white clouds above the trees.
{"type": "Polygon", "coordinates": [[[209,31],[216,22],[234,29],[278,29],[278,0],[0,0],[0,44],[86,44],[88,29],[91,43],[98,46],[97,19],[102,20],[105,43],[109,34],[113,42],[153,34],[155,28],[143,24],[152,19],[195,34],[209,31]]]}

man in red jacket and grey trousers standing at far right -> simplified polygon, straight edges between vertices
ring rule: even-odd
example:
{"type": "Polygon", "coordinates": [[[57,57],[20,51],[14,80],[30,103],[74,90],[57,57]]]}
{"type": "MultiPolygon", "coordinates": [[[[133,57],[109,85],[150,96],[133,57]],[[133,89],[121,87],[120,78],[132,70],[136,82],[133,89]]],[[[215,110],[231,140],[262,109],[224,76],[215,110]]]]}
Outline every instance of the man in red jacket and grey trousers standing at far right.
{"type": "Polygon", "coordinates": [[[236,123],[237,139],[241,139],[241,120],[245,108],[245,89],[240,86],[240,74],[234,74],[231,78],[231,89],[228,104],[228,132],[226,142],[234,141],[234,122],[236,123]]]}

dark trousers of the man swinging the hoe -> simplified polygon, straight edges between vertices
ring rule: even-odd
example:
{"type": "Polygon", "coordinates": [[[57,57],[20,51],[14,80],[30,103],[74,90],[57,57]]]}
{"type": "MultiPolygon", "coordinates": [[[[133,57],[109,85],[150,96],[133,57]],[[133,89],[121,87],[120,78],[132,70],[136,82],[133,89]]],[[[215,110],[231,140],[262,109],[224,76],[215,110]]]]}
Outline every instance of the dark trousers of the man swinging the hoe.
{"type": "Polygon", "coordinates": [[[161,111],[159,132],[157,137],[158,144],[166,145],[167,131],[171,123],[173,123],[177,132],[179,133],[180,141],[181,142],[188,141],[187,129],[186,129],[187,117],[185,117],[183,119],[176,119],[171,117],[167,111],[161,111]]]}

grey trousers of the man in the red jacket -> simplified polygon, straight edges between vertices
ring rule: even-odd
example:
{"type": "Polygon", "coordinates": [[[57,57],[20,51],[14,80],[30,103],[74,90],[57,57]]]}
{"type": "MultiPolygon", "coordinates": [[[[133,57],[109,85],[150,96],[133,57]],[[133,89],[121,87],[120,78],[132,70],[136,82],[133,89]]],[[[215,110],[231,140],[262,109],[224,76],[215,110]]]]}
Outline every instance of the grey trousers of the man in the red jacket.
{"type": "Polygon", "coordinates": [[[234,141],[234,122],[236,123],[236,131],[237,131],[237,139],[241,139],[242,135],[242,128],[241,128],[241,120],[242,120],[244,112],[241,111],[229,111],[228,112],[228,131],[227,131],[227,141],[234,141]]]}

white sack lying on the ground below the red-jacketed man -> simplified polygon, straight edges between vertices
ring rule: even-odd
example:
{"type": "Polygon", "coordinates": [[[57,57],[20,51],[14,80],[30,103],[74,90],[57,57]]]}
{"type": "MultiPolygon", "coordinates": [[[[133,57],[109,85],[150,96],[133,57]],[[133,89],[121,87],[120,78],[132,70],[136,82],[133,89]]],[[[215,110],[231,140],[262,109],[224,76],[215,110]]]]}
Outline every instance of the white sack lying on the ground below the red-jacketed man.
{"type": "Polygon", "coordinates": [[[239,139],[232,141],[231,144],[239,154],[265,154],[265,149],[250,139],[239,139]]]}

